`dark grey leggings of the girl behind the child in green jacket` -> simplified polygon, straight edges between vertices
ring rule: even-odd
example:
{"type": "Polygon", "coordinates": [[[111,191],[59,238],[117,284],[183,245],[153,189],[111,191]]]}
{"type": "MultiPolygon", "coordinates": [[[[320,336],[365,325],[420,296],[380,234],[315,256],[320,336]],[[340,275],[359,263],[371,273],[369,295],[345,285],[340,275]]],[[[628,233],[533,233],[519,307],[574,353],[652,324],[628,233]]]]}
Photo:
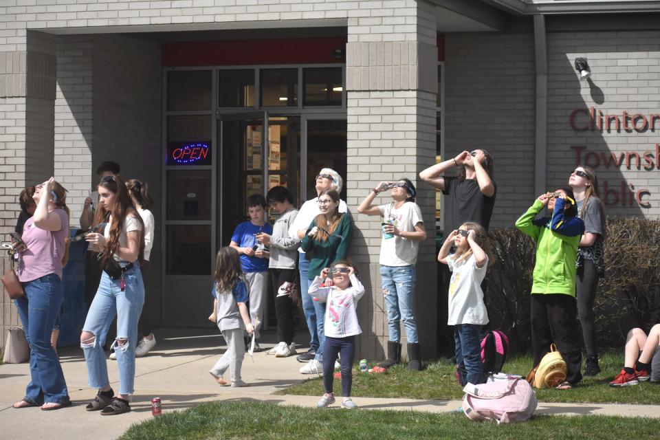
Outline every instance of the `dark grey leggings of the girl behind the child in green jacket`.
{"type": "Polygon", "coordinates": [[[597,355],[596,330],[593,325],[593,301],[598,288],[598,274],[593,261],[583,259],[582,274],[575,278],[575,299],[577,300],[577,314],[580,316],[582,338],[587,356],[597,355]]]}

